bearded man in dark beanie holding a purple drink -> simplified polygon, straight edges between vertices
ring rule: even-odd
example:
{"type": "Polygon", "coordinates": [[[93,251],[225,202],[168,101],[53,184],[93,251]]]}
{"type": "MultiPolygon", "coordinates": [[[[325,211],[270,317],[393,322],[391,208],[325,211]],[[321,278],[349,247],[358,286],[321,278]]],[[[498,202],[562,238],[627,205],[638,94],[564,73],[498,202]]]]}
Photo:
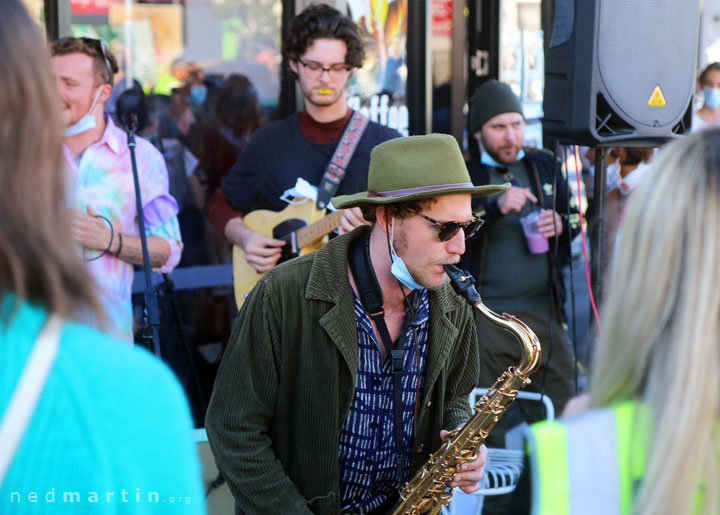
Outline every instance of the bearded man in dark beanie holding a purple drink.
{"type": "MultiPolygon", "coordinates": [[[[468,243],[461,267],[470,270],[480,284],[483,301],[490,309],[515,315],[535,331],[543,346],[544,363],[526,389],[544,391],[560,412],[575,392],[574,361],[562,313],[561,267],[569,261],[577,211],[568,206],[560,164],[549,153],[522,147],[525,118],[520,100],[507,84],[489,80],[477,87],[470,99],[469,128],[479,150],[479,157],[467,164],[473,183],[509,182],[512,186],[474,203],[473,209],[485,210],[486,223],[468,243]],[[537,229],[541,243],[548,243],[541,253],[531,253],[520,222],[533,211],[540,212],[537,229]]],[[[478,386],[490,387],[520,361],[521,348],[509,345],[507,333],[483,317],[476,316],[476,323],[478,386]]],[[[528,422],[545,416],[540,403],[517,404],[528,422]]],[[[488,446],[505,446],[505,418],[490,433],[488,446]]],[[[504,513],[502,508],[493,510],[495,499],[487,501],[484,513],[504,513]]]]}

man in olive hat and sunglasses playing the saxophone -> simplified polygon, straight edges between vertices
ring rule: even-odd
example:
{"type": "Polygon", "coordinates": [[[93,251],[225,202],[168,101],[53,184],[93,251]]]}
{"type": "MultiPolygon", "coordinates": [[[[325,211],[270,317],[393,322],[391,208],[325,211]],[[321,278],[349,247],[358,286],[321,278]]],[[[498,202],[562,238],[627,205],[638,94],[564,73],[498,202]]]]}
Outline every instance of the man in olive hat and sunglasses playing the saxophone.
{"type": "MultiPolygon", "coordinates": [[[[508,186],[473,186],[451,136],[387,141],[371,153],[368,191],[333,198],[371,225],[260,279],[206,424],[240,512],[386,513],[470,417],[475,324],[443,265],[482,225],[471,197],[508,186]]],[[[452,486],[477,490],[485,454],[452,486]]]]}

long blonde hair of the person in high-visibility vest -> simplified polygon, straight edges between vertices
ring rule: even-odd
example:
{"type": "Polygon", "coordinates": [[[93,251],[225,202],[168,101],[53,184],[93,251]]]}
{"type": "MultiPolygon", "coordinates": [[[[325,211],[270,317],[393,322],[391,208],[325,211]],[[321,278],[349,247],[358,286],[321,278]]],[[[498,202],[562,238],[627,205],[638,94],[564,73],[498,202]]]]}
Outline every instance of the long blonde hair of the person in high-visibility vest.
{"type": "Polygon", "coordinates": [[[720,131],[663,149],[633,194],[590,398],[637,399],[653,432],[633,513],[720,513],[720,131]]]}

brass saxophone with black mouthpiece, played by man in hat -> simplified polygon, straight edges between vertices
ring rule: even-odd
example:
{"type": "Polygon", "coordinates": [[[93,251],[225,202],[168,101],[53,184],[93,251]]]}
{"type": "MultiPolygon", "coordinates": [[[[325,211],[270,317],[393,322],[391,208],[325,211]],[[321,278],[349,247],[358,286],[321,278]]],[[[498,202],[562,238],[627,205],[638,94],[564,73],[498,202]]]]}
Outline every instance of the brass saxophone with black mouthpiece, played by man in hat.
{"type": "Polygon", "coordinates": [[[488,393],[475,404],[475,414],[470,420],[462,428],[450,432],[440,449],[400,491],[400,500],[390,512],[393,515],[435,515],[450,503],[453,494],[448,484],[458,473],[458,468],[478,457],[480,445],[490,430],[515,400],[518,389],[530,384],[528,376],[540,365],[540,342],[527,324],[507,313],[498,315],[483,304],[473,286],[475,280],[469,273],[453,265],[445,265],[445,272],[458,295],[491,322],[515,336],[522,345],[523,358],[495,381],[488,393]]]}

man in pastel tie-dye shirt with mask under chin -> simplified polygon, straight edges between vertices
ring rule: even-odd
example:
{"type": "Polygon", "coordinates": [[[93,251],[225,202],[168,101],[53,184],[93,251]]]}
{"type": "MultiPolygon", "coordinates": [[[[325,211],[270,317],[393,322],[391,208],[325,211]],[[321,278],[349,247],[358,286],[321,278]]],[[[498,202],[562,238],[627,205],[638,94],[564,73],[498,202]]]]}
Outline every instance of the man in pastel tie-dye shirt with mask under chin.
{"type": "MultiPolygon", "coordinates": [[[[109,330],[132,342],[133,267],[143,264],[143,254],[127,134],[104,112],[117,64],[99,39],[63,38],[51,51],[63,152],[75,187],[73,238],[100,286],[109,330]]],[[[149,141],[135,140],[150,266],[169,273],[182,251],[177,202],[162,154],[149,141]]]]}

